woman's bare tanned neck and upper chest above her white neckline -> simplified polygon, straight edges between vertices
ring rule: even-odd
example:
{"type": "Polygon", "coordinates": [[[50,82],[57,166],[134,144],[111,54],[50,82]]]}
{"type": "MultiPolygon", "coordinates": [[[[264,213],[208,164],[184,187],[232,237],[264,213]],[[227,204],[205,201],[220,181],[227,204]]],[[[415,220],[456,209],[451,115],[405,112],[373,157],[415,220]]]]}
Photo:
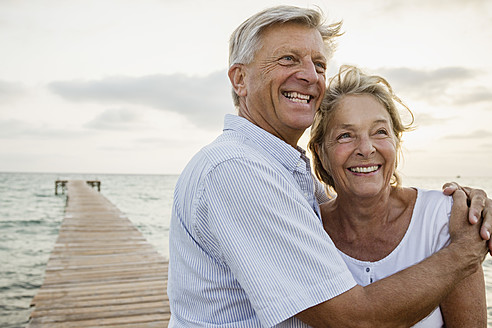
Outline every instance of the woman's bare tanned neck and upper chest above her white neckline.
{"type": "Polygon", "coordinates": [[[359,260],[380,260],[405,235],[415,198],[415,190],[394,187],[374,197],[339,194],[321,207],[325,230],[345,254],[359,260]]]}

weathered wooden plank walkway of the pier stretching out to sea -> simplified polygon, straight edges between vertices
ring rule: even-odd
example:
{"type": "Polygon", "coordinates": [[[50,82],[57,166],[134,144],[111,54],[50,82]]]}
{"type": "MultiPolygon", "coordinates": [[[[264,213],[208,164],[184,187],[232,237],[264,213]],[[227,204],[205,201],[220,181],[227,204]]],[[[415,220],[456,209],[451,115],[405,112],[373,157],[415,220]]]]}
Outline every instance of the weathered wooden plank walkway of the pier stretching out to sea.
{"type": "Polygon", "coordinates": [[[167,260],[85,181],[67,207],[27,328],[167,327],[167,260]]]}

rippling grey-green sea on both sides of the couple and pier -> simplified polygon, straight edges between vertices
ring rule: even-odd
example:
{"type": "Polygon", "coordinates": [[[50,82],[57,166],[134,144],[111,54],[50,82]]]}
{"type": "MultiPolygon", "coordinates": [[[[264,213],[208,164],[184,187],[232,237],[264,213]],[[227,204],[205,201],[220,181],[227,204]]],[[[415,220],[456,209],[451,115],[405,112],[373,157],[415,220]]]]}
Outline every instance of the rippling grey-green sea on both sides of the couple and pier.
{"type": "MultiPolygon", "coordinates": [[[[55,195],[56,180],[99,180],[101,193],[126,213],[168,258],[172,195],[178,175],[1,173],[0,172],[0,327],[25,327],[30,303],[63,219],[66,194],[55,195]]],[[[403,177],[405,186],[441,189],[445,182],[484,189],[492,197],[492,177],[403,177]]],[[[492,328],[492,257],[484,264],[492,328]]]]}

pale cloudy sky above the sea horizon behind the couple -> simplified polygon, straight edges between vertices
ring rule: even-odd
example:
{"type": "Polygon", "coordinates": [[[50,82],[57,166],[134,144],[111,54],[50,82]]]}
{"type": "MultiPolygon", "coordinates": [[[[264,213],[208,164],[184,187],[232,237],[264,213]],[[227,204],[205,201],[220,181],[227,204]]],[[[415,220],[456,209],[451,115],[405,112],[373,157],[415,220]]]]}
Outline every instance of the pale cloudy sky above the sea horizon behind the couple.
{"type": "Polygon", "coordinates": [[[492,176],[490,0],[0,0],[0,172],[179,174],[236,112],[230,34],[281,4],[410,107],[404,175],[492,176]]]}

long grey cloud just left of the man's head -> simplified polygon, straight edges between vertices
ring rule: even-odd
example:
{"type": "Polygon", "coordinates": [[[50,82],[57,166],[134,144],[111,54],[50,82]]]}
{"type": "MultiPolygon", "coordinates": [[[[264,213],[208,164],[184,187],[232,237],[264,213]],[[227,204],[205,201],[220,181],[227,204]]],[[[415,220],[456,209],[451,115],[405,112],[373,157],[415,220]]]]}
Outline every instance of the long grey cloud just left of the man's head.
{"type": "Polygon", "coordinates": [[[58,81],[50,83],[49,88],[75,102],[144,105],[180,113],[196,126],[204,128],[222,126],[224,114],[234,112],[225,71],[204,77],[157,74],[58,81]]]}

